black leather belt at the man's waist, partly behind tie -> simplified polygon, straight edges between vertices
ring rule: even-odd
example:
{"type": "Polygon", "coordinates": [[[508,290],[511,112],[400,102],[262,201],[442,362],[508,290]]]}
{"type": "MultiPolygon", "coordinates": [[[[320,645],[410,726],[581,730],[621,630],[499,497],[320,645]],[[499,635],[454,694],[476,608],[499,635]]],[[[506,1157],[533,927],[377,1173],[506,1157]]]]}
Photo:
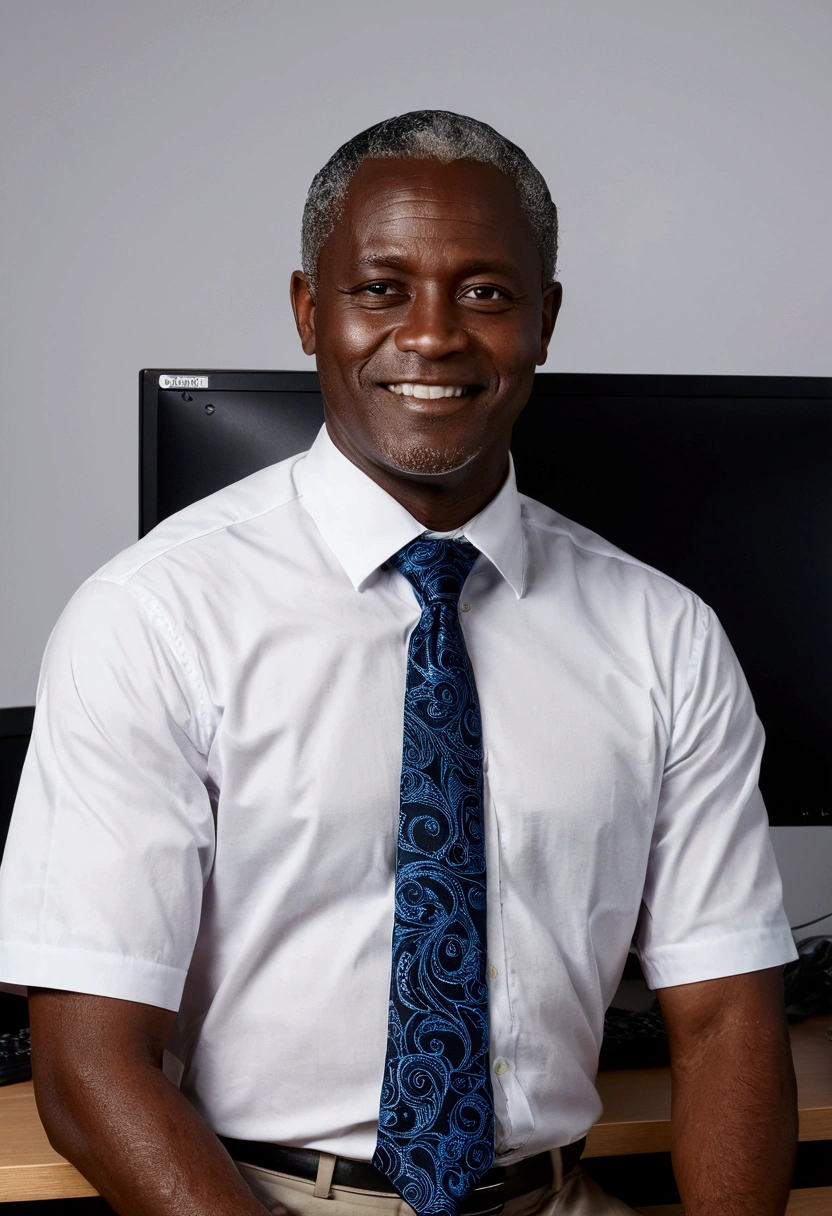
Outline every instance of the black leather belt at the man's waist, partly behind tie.
{"type": "MultiPolygon", "coordinates": [[[[235,1141],[227,1136],[218,1137],[235,1161],[243,1165],[259,1165],[264,1170],[276,1170],[294,1178],[315,1182],[320,1153],[309,1148],[288,1148],[285,1144],[263,1144],[257,1141],[235,1141]]],[[[561,1149],[563,1175],[574,1169],[584,1152],[586,1137],[567,1144],[561,1149]]],[[[549,1153],[527,1156],[513,1165],[495,1165],[483,1175],[479,1183],[462,1200],[461,1216],[491,1216],[502,1211],[510,1199],[525,1195],[529,1190],[547,1187],[552,1181],[552,1159],[549,1153]]],[[[332,1173],[333,1187],[352,1187],[355,1190],[377,1190],[380,1194],[394,1195],[397,1192],[375,1165],[369,1161],[354,1161],[349,1156],[337,1156],[332,1173]]]]}

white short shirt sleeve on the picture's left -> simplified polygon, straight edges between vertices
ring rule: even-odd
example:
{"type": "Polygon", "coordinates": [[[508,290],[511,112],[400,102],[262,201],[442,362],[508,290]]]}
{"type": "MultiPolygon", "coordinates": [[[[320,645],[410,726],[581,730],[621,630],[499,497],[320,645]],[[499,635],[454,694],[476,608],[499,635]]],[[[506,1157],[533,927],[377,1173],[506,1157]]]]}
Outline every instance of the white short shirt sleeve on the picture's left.
{"type": "Polygon", "coordinates": [[[49,641],[0,868],[0,981],[178,1009],[214,855],[201,685],[162,609],[86,582],[49,641]]]}

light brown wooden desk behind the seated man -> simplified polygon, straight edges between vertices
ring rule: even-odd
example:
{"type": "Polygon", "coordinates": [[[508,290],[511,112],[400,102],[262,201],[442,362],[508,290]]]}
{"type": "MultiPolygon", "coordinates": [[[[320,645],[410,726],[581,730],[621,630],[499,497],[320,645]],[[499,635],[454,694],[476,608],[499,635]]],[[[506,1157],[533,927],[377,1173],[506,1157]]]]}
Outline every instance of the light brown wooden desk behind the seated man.
{"type": "MultiPolygon", "coordinates": [[[[798,1079],[800,1139],[832,1139],[832,1019],[810,1018],[792,1026],[798,1079]]],[[[665,1153],[670,1149],[670,1070],[635,1069],[598,1075],[603,1115],[586,1139],[586,1156],[665,1153]]],[[[12,1199],[71,1199],[96,1192],[49,1144],[30,1081],[0,1088],[0,1203],[12,1199]]],[[[676,1216],[679,1205],[641,1209],[676,1216]]],[[[832,1188],[793,1192],[787,1216],[830,1216],[832,1188]]]]}

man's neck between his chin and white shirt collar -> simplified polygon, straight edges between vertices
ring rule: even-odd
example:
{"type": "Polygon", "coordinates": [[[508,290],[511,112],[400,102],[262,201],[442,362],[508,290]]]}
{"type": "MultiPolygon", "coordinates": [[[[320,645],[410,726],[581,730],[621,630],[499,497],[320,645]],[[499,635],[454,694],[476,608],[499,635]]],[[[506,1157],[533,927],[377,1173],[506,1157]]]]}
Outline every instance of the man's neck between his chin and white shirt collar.
{"type": "Polygon", "coordinates": [[[508,475],[508,444],[479,452],[450,473],[406,473],[382,465],[327,420],[336,447],[429,531],[451,531],[479,514],[508,475]]]}

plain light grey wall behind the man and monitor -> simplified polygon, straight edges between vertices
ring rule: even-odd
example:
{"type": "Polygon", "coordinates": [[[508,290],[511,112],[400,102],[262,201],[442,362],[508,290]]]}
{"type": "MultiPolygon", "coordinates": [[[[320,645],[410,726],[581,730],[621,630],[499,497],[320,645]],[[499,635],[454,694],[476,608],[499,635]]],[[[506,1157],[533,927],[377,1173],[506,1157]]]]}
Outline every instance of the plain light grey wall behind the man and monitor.
{"type": "MultiPolygon", "coordinates": [[[[547,370],[832,375],[831,47],[827,0],[2,0],[0,704],[135,540],[139,368],[311,366],[305,192],[381,118],[546,176],[547,370]]],[[[791,922],[832,908],[832,832],[772,837],[791,922]]]]}

